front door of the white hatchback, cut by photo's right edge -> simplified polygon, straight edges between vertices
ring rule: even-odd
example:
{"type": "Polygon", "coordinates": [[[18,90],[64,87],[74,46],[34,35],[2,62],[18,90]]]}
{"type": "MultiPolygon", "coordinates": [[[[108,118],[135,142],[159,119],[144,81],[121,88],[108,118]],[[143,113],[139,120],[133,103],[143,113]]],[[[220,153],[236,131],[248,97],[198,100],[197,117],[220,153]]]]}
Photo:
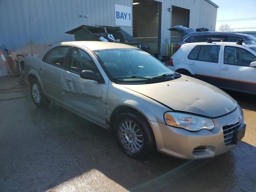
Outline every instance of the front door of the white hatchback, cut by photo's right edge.
{"type": "Polygon", "coordinates": [[[256,68],[250,67],[256,54],[239,45],[224,46],[222,58],[219,86],[256,93],[256,68]]]}

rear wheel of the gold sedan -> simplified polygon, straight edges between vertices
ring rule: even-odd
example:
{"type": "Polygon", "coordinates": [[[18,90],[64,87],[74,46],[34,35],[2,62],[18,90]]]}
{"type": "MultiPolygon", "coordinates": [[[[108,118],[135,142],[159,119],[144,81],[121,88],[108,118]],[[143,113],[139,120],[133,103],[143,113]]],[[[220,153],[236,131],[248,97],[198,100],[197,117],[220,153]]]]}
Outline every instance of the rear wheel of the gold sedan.
{"type": "Polygon", "coordinates": [[[34,104],[39,108],[47,108],[51,101],[46,98],[37,79],[30,83],[30,94],[34,104]]]}

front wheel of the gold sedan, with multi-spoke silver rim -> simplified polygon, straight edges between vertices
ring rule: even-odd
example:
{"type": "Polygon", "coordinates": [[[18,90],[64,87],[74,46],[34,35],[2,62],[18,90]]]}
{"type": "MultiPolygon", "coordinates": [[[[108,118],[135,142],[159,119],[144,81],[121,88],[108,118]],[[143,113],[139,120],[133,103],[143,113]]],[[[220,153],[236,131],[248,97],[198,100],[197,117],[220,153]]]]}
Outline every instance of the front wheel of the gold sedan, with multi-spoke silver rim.
{"type": "Polygon", "coordinates": [[[128,156],[143,158],[155,151],[153,131],[140,114],[121,113],[114,124],[118,144],[128,156]]]}

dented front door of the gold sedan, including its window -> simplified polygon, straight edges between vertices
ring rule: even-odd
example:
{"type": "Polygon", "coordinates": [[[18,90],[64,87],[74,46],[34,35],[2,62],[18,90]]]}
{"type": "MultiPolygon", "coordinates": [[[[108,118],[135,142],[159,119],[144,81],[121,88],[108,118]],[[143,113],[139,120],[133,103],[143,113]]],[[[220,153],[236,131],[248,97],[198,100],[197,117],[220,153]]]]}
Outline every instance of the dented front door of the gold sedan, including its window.
{"type": "Polygon", "coordinates": [[[104,126],[108,82],[102,84],[94,80],[82,79],[80,78],[82,70],[92,70],[100,75],[92,58],[84,50],[73,47],[66,70],[61,76],[64,106],[104,126]]]}

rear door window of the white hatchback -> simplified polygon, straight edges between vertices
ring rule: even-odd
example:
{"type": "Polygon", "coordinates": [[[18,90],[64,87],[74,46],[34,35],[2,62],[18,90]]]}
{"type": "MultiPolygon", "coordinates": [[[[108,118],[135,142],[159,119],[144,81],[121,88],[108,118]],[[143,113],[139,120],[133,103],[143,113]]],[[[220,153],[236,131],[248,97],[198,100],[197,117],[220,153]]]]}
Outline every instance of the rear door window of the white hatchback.
{"type": "Polygon", "coordinates": [[[218,63],[220,46],[202,45],[196,46],[188,55],[190,60],[218,63]]]}

